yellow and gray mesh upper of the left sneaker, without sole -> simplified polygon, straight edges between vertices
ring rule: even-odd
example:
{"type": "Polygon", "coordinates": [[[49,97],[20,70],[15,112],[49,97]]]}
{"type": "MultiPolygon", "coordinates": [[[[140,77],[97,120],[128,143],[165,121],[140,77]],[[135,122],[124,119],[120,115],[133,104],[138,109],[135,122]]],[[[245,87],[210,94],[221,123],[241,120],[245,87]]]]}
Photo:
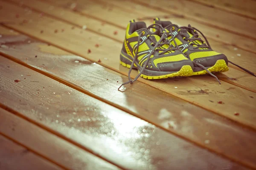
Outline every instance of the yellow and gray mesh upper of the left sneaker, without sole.
{"type": "MultiPolygon", "coordinates": [[[[157,34],[151,35],[144,22],[130,22],[126,29],[121,54],[123,53],[125,57],[128,57],[132,61],[138,50],[135,64],[143,67],[145,61],[148,59],[148,55],[159,40],[160,36],[157,34]],[[138,37],[141,33],[142,36],[138,45],[138,37]]],[[[192,65],[192,62],[181,54],[180,51],[172,47],[166,38],[154,50],[146,69],[152,71],[179,71],[183,65],[192,65]]]]}

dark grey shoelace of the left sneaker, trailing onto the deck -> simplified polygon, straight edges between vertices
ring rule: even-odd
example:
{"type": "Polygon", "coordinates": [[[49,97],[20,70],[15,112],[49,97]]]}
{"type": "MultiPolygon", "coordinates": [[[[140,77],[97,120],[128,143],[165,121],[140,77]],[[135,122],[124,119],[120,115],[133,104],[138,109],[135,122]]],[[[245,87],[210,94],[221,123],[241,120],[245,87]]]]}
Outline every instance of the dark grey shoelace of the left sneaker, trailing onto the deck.
{"type": "MultiPolygon", "coordinates": [[[[175,48],[174,46],[172,46],[172,44],[169,42],[168,38],[167,38],[167,35],[166,35],[166,31],[165,29],[163,28],[163,26],[159,25],[159,24],[152,24],[150,26],[148,26],[147,28],[147,39],[149,39],[151,41],[151,45],[154,45],[154,48],[151,50],[150,54],[148,55],[148,59],[145,61],[145,64],[143,66],[143,68],[141,69],[140,73],[134,78],[134,80],[131,79],[131,71],[132,71],[132,68],[133,68],[133,65],[134,65],[134,62],[137,60],[138,58],[138,51],[139,51],[139,45],[140,45],[140,37],[143,35],[144,33],[141,32],[139,34],[139,37],[138,37],[138,43],[137,43],[137,47],[135,48],[135,56],[134,56],[134,59],[131,63],[131,68],[129,69],[129,72],[128,72],[128,78],[129,78],[129,81],[128,82],[124,82],[122,83],[122,85],[120,85],[120,87],[118,88],[118,90],[123,86],[123,85],[126,85],[128,83],[133,83],[135,82],[139,77],[140,75],[143,73],[143,71],[145,70],[146,66],[148,65],[148,62],[149,62],[149,59],[151,57],[151,55],[155,54],[156,52],[158,51],[161,51],[159,54],[165,54],[166,52],[168,51],[174,51],[174,50],[177,50],[177,48],[175,48]],[[152,35],[150,34],[150,28],[155,28],[155,29],[158,29],[160,31],[160,40],[158,42],[155,42],[152,38],[152,35]],[[169,45],[168,48],[162,48],[163,45],[169,45]]],[[[146,40],[147,40],[146,39],[146,40]]],[[[145,40],[145,41],[146,41],[145,40]]]]}

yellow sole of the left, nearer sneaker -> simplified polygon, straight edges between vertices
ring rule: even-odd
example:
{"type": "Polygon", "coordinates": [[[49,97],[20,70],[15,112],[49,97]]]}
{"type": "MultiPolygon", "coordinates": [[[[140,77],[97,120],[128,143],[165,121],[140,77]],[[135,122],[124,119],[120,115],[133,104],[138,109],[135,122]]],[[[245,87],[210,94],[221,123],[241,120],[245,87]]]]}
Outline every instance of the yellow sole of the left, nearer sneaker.
{"type": "MultiPolygon", "coordinates": [[[[131,65],[126,64],[125,62],[120,61],[120,64],[124,67],[131,68],[131,65]]],[[[139,70],[138,72],[140,73],[139,70]]],[[[166,79],[166,78],[172,78],[172,77],[187,77],[192,73],[193,73],[193,69],[191,68],[190,65],[183,65],[182,68],[180,68],[180,71],[177,71],[171,74],[158,75],[158,76],[148,76],[145,74],[141,74],[140,77],[144,79],[166,79]]]]}

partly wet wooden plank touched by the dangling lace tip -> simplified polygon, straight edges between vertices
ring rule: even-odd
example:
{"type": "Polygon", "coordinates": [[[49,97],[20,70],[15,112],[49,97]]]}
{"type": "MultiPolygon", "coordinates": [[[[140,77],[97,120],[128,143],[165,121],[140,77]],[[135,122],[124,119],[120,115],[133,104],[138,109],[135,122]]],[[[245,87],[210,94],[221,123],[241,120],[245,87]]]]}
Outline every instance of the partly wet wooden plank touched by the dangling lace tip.
{"type": "MultiPolygon", "coordinates": [[[[0,31],[4,32],[2,30],[3,28],[0,28],[0,31]]],[[[244,131],[244,129],[234,122],[230,122],[201,108],[196,108],[194,105],[182,102],[179,99],[172,99],[172,96],[139,82],[134,84],[132,89],[129,88],[120,93],[116,91],[116,88],[120,85],[116,83],[116,80],[121,83],[124,79],[127,79],[126,77],[116,74],[107,68],[103,70],[97,64],[93,64],[88,60],[73,56],[66,51],[48,46],[42,42],[29,39],[25,36],[6,37],[3,35],[2,40],[3,42],[5,40],[13,40],[9,44],[6,44],[6,46],[9,46],[9,49],[4,51],[8,54],[8,57],[16,59],[17,62],[43,70],[44,74],[50,74],[49,77],[59,77],[61,81],[68,82],[75,87],[80,87],[81,91],[85,93],[90,91],[94,95],[113,102],[119,108],[128,110],[129,113],[135,116],[153,122],[155,125],[189,139],[192,142],[196,142],[201,146],[204,145],[204,147],[209,149],[220,151],[224,155],[239,155],[237,157],[239,160],[244,156],[238,153],[241,153],[242,150],[248,147],[247,150],[252,151],[252,153],[245,152],[245,154],[248,154],[249,158],[253,158],[253,156],[250,156],[250,154],[254,154],[254,151],[250,149],[253,146],[250,144],[254,144],[255,142],[248,142],[250,144],[243,147],[240,146],[247,139],[249,141],[256,141],[256,139],[251,139],[251,136],[256,137],[255,131],[244,131]],[[15,39],[19,41],[15,41],[15,39]],[[30,43],[26,43],[28,41],[30,43]],[[15,45],[15,49],[10,48],[10,45],[15,45]],[[35,55],[37,55],[36,58],[35,55]],[[44,65],[41,63],[44,63],[44,65]],[[69,71],[67,71],[67,68],[69,68],[69,71]],[[76,76],[74,76],[74,73],[76,76]],[[92,80],[88,79],[88,77],[92,80]],[[97,77],[97,79],[93,77],[97,77]],[[105,80],[106,77],[108,81],[105,80]],[[101,81],[105,82],[102,83],[101,81]],[[148,105],[148,103],[151,103],[153,96],[155,99],[154,105],[148,105]],[[156,105],[157,107],[155,107],[156,105]],[[206,136],[207,138],[211,136],[208,139],[211,142],[207,145],[204,143],[206,136]],[[219,136],[222,137],[220,138],[219,136]],[[223,140],[226,142],[222,142],[223,140]],[[237,140],[239,141],[233,142],[237,140]],[[226,143],[229,143],[229,145],[226,145],[226,143]],[[236,150],[233,148],[236,148],[236,150]]],[[[192,93],[195,92],[192,91],[192,93]]]]}

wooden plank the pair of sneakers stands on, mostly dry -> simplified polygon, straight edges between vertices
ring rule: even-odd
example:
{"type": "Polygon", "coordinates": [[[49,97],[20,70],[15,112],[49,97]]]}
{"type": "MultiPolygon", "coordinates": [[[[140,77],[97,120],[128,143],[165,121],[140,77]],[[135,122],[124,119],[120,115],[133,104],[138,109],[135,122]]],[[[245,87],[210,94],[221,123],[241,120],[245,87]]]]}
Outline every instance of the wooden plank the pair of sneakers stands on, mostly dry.
{"type": "MultiPolygon", "coordinates": [[[[22,13],[22,9],[17,6],[5,3],[5,7],[13,8],[20,14],[22,13]]],[[[2,10],[4,9],[5,8],[3,8],[2,10]]],[[[6,12],[7,11],[10,10],[6,10],[6,12]]],[[[37,13],[34,13],[31,14],[29,18],[36,20],[38,19],[38,15],[37,13]]],[[[16,20],[16,18],[14,18],[14,20],[16,20]]],[[[25,32],[26,34],[39,37],[41,40],[47,42],[52,42],[54,45],[60,48],[68,49],[68,51],[89,58],[92,61],[97,62],[99,60],[99,56],[103,56],[106,59],[102,57],[103,59],[100,62],[101,65],[107,66],[108,68],[127,75],[127,68],[119,65],[119,51],[116,50],[116,48],[121,49],[122,44],[116,44],[113,40],[109,40],[108,38],[101,37],[89,31],[84,31],[83,34],[80,34],[81,29],[79,28],[77,28],[75,31],[72,29],[67,29],[61,34],[54,34],[54,30],[56,28],[70,28],[71,25],[58,20],[54,20],[47,16],[34,23],[23,25],[9,25],[9,27],[15,27],[19,31],[25,32]],[[48,27],[45,28],[45,34],[41,34],[40,30],[46,24],[48,25],[48,27]],[[32,25],[33,27],[31,27],[32,25]],[[34,27],[34,25],[36,26],[34,27]],[[90,40],[87,41],[86,45],[88,48],[92,49],[92,52],[90,54],[86,54],[86,56],[85,53],[87,53],[87,49],[84,49],[84,40],[90,40]],[[101,48],[96,48],[95,44],[99,43],[99,40],[101,42],[105,42],[105,45],[103,45],[101,48]],[[106,51],[111,52],[108,53],[106,51]]],[[[135,75],[137,75],[137,72],[133,71],[132,77],[135,77],[135,75]]],[[[246,77],[251,75],[244,74],[244,76],[246,77]]],[[[253,128],[255,128],[256,126],[254,123],[254,119],[256,119],[256,115],[254,114],[255,106],[253,105],[253,103],[255,103],[255,94],[253,92],[238,88],[237,86],[230,85],[225,82],[223,82],[222,85],[219,86],[218,83],[215,82],[215,79],[209,76],[189,77],[186,79],[179,79],[178,82],[176,82],[174,79],[164,80],[165,82],[169,83],[161,83],[161,81],[163,80],[148,81],[145,79],[140,79],[140,81],[157,87],[167,93],[178,96],[181,99],[192,102],[193,104],[207,108],[210,111],[214,111],[215,113],[226,116],[230,119],[235,120],[236,122],[240,122],[253,128]],[[187,84],[191,84],[193,86],[188,87],[187,84]],[[205,85],[207,87],[205,87],[205,85]],[[174,87],[178,88],[175,89],[174,87]],[[236,91],[230,91],[230,88],[235,88],[236,91]],[[195,91],[196,93],[188,93],[188,91],[195,91]],[[200,93],[201,91],[207,91],[207,93],[200,93]],[[198,96],[197,94],[204,95],[201,95],[200,98],[196,98],[195,95],[198,96]],[[230,98],[232,98],[233,100],[230,100],[230,98]],[[214,102],[205,103],[205,101],[209,101],[209,99],[214,102]],[[222,100],[225,105],[219,105],[217,102],[220,100],[222,100]],[[236,112],[243,114],[238,118],[237,116],[234,116],[234,113],[236,112]]]]}

